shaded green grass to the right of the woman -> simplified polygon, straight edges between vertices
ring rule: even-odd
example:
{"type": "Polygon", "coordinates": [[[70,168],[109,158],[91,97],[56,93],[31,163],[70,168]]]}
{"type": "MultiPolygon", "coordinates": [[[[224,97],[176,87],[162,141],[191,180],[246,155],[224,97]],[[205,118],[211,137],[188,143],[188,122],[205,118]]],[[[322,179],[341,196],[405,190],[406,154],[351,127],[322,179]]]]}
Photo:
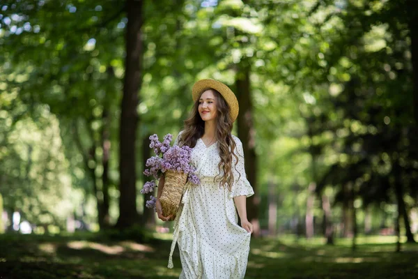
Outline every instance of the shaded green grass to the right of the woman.
{"type": "Polygon", "coordinates": [[[251,241],[246,278],[418,278],[417,245],[394,252],[394,243],[362,243],[352,251],[345,243],[279,239],[251,241]]]}

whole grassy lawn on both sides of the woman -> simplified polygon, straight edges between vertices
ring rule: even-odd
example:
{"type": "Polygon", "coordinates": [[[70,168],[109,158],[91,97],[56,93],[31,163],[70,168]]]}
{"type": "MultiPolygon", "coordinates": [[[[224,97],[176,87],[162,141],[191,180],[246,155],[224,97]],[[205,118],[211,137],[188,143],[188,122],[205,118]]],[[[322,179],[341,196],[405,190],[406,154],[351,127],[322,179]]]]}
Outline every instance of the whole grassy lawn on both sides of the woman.
{"type": "MultiPolygon", "coordinates": [[[[178,278],[167,269],[169,234],[148,244],[110,241],[95,234],[75,236],[0,235],[0,278],[178,278]]],[[[418,238],[417,238],[418,239],[418,238]]],[[[418,278],[418,245],[394,252],[393,236],[359,238],[324,246],[323,239],[254,239],[245,278],[418,278]]]]}

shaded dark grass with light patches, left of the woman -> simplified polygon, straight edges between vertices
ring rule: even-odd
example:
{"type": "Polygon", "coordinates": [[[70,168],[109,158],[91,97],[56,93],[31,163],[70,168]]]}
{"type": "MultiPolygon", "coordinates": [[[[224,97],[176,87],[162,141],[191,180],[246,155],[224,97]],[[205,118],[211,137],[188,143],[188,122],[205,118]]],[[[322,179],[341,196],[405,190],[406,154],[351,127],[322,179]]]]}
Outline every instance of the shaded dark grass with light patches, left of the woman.
{"type": "Polygon", "coordinates": [[[0,235],[0,278],[178,278],[170,241],[98,241],[102,236],[0,235]]]}

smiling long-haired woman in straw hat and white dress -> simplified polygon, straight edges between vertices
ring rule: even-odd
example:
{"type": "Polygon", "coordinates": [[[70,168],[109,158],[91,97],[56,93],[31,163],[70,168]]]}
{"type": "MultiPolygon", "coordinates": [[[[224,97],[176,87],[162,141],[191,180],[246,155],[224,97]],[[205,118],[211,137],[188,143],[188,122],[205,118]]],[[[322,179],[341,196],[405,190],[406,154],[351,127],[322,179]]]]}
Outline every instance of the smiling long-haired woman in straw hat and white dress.
{"type": "MultiPolygon", "coordinates": [[[[196,82],[192,98],[192,113],[175,144],[192,147],[192,163],[201,183],[185,186],[169,268],[178,243],[183,267],[180,278],[244,278],[253,229],[245,199],[254,191],[246,178],[242,143],[231,135],[238,100],[228,86],[215,80],[196,82]]],[[[163,187],[164,179],[160,179],[157,214],[161,220],[170,220],[171,216],[162,215],[163,187]]]]}

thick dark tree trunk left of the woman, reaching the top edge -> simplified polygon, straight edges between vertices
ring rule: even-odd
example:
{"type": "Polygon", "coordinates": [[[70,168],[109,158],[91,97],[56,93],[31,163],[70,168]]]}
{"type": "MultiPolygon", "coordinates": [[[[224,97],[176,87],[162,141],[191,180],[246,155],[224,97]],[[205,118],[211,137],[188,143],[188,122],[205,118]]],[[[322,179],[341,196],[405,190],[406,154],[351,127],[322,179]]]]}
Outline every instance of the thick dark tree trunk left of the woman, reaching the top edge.
{"type": "Polygon", "coordinates": [[[123,81],[123,98],[121,103],[121,126],[119,144],[119,173],[121,177],[119,191],[119,218],[116,227],[123,229],[136,223],[137,188],[136,188],[136,160],[135,142],[137,139],[137,125],[139,117],[137,106],[139,104],[139,89],[141,87],[141,25],[142,0],[127,0],[127,27],[126,27],[126,56],[125,77],[123,81]]]}

